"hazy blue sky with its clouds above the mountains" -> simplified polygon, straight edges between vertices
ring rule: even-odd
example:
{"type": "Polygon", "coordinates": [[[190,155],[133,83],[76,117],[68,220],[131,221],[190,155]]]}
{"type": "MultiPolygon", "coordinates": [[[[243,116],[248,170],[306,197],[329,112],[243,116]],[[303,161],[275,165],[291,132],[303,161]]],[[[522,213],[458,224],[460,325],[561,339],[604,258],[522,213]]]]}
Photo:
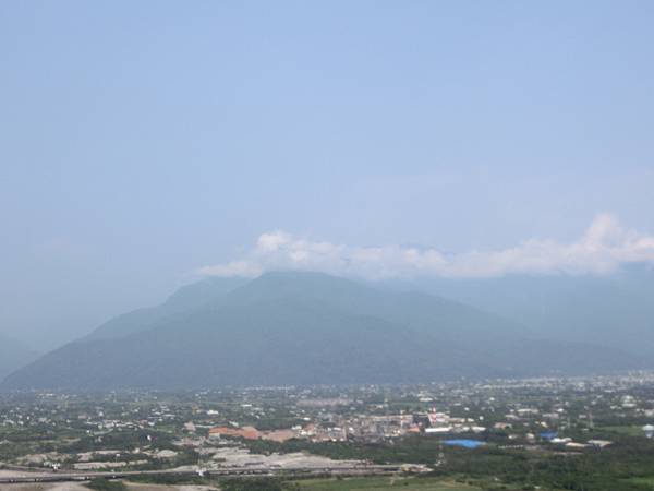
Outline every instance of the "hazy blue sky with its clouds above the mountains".
{"type": "Polygon", "coordinates": [[[651,1],[0,2],[0,333],[205,275],[654,249],[651,1]]]}

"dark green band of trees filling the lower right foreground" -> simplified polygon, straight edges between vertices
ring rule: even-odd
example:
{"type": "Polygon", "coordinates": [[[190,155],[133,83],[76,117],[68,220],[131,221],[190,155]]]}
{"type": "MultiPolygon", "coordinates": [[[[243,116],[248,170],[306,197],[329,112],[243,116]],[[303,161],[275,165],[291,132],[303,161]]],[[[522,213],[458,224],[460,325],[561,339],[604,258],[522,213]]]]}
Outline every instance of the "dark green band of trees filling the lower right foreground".
{"type": "Polygon", "coordinates": [[[621,436],[602,451],[583,453],[524,452],[495,446],[473,451],[444,448],[438,440],[425,438],[376,445],[305,441],[281,444],[257,441],[249,445],[253,452],[261,453],[308,451],[331,458],[365,456],[379,464],[438,463],[433,477],[443,480],[463,476],[464,481],[483,489],[502,489],[497,488],[497,483],[508,483],[528,490],[541,487],[574,491],[644,491],[651,490],[651,482],[654,482],[654,442],[632,436],[621,436]]]}

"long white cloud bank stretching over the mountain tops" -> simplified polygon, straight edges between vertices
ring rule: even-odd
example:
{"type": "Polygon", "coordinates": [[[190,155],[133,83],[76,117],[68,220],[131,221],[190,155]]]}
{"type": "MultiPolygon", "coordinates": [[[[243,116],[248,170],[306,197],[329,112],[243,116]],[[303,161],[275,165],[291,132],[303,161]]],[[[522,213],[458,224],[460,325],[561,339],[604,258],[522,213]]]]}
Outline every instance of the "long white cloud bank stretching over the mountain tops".
{"type": "Polygon", "coordinates": [[[239,261],[198,270],[202,275],[257,276],[270,270],[320,271],[370,279],[491,277],[524,274],[605,274],[621,264],[654,262],[654,236],[622,228],[610,214],[597,215],[570,243],[530,239],[499,251],[443,254],[436,249],[399,246],[352,247],[312,241],[284,231],[259,236],[239,261]]]}

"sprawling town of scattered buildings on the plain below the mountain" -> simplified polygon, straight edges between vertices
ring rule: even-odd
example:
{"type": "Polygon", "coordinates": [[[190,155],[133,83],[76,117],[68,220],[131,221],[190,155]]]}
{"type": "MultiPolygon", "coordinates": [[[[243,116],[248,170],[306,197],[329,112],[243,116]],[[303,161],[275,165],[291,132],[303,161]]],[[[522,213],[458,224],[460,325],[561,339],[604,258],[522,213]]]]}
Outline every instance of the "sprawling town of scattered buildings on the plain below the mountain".
{"type": "Polygon", "coordinates": [[[542,466],[639,452],[650,459],[650,475],[632,478],[638,487],[654,476],[653,424],[650,372],[177,393],[16,392],[0,396],[0,480],[19,490],[64,477],[166,472],[216,486],[225,476],[303,486],[318,477],[400,475],[456,478],[470,489],[548,489],[542,472],[512,476],[507,464],[502,475],[485,468],[487,460],[542,466]]]}

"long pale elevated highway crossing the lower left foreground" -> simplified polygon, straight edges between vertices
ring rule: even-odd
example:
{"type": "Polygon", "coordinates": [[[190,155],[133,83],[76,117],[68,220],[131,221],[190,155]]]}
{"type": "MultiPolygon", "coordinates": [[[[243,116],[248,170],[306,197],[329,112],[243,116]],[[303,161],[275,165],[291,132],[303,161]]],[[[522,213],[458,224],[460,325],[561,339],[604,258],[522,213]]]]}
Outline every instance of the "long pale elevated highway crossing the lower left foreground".
{"type": "Polygon", "coordinates": [[[247,476],[370,476],[393,474],[401,470],[397,465],[361,465],[337,467],[225,467],[204,471],[197,470],[125,470],[125,471],[92,471],[92,472],[49,472],[16,474],[16,476],[1,477],[0,484],[34,483],[34,482],[65,482],[89,481],[92,479],[124,479],[142,476],[172,476],[172,477],[247,477],[247,476]]]}

